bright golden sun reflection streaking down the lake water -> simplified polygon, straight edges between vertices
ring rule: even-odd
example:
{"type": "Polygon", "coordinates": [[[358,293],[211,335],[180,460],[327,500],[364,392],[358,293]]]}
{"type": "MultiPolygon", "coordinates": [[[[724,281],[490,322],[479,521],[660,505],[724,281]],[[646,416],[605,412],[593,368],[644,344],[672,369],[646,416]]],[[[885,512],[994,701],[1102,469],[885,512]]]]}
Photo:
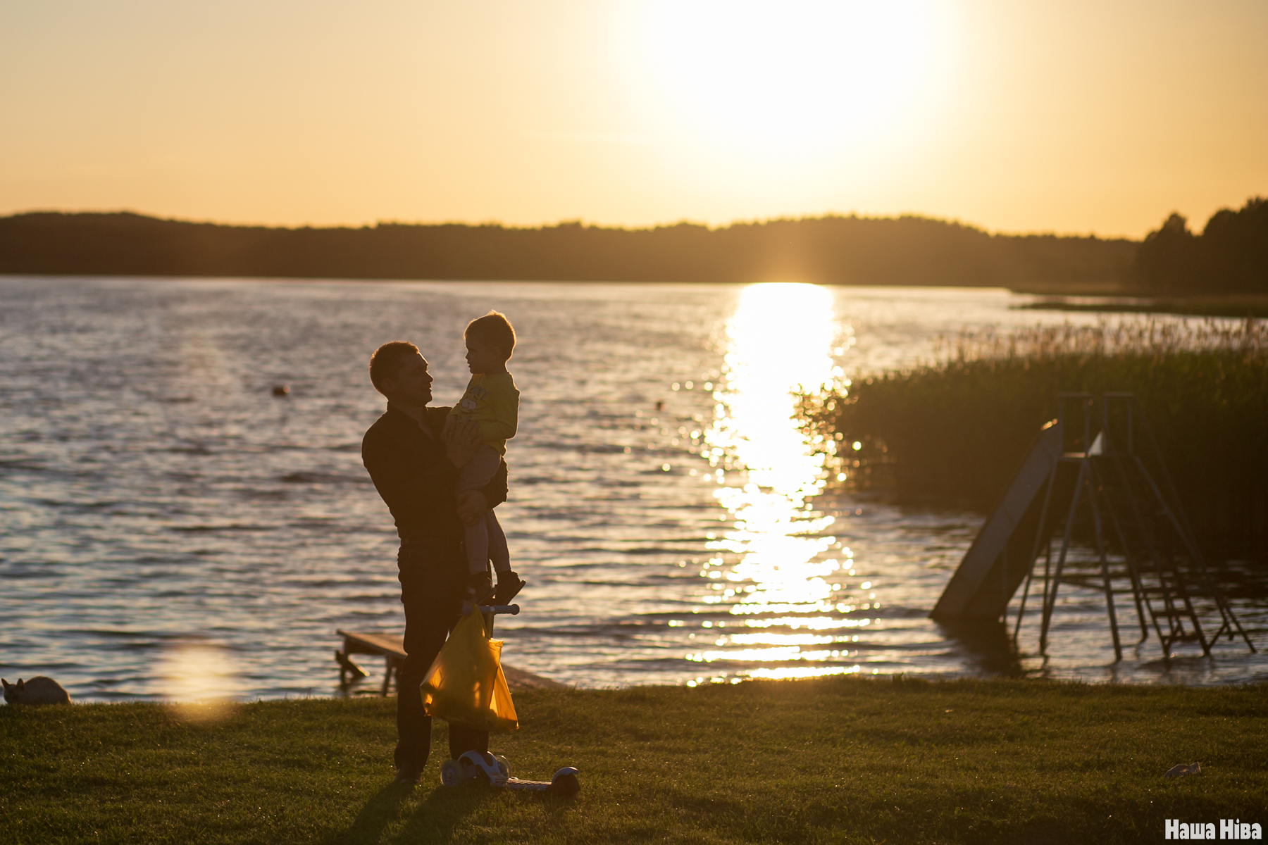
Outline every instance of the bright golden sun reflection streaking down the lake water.
{"type": "Polygon", "coordinates": [[[825,485],[824,455],[795,419],[794,391],[841,374],[832,359],[834,336],[832,293],[804,284],[747,288],[727,324],[725,384],[714,393],[702,455],[719,485],[714,495],[733,522],[708,543],[701,602],[748,618],[730,623],[743,633],[719,622],[704,635],[715,635],[718,649],[687,655],[716,664],[715,682],[725,668],[753,678],[860,671],[846,663],[857,655],[850,646],[858,637],[843,631],[869,619],[839,614],[870,604],[847,598],[852,554],[827,533],[833,517],[813,503],[825,485]]]}

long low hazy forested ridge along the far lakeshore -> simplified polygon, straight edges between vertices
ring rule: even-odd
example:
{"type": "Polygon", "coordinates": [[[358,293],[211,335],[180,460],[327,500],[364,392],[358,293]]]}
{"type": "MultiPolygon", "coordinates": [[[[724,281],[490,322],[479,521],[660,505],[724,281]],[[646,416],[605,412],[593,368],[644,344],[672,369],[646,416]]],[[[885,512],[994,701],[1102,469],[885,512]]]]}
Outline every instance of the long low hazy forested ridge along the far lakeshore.
{"type": "Polygon", "coordinates": [[[0,272],[326,279],[812,281],[1078,290],[1126,277],[1137,243],[1003,236],[919,217],[620,229],[380,223],[265,228],[138,214],[0,218],[0,272]]]}

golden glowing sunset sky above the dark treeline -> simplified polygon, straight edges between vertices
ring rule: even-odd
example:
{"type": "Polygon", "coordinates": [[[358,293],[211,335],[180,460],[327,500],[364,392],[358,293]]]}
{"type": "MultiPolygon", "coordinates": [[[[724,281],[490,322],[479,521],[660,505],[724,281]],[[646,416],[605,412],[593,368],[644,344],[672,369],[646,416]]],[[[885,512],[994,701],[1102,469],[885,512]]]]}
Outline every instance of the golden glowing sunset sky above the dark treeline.
{"type": "Polygon", "coordinates": [[[0,214],[1140,237],[1255,194],[1263,0],[0,0],[0,214]]]}

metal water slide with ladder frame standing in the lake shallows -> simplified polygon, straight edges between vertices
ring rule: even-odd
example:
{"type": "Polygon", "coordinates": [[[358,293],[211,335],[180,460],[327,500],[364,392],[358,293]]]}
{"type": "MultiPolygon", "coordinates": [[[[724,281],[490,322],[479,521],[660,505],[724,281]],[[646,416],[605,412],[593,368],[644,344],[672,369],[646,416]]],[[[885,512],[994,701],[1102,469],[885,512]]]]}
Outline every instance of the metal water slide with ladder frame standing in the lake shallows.
{"type": "Polygon", "coordinates": [[[1058,409],[929,616],[1007,622],[1008,606],[1025,584],[1016,642],[1037,580],[1044,654],[1058,592],[1063,583],[1077,584],[1103,590],[1118,660],[1116,595],[1131,597],[1139,642],[1153,626],[1164,658],[1181,642],[1197,642],[1208,655],[1221,636],[1240,636],[1253,652],[1207,570],[1135,395],[1106,393],[1098,402],[1090,394],[1060,394],[1058,409]],[[1087,550],[1090,556],[1080,554],[1087,550]]]}

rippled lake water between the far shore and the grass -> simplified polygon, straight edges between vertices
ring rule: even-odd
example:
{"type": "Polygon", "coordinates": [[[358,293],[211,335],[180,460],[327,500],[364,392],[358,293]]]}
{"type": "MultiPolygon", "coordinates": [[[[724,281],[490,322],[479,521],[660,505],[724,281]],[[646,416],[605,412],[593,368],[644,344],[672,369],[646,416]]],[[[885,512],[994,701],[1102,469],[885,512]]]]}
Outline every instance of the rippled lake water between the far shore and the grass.
{"type": "MultiPolygon", "coordinates": [[[[981,518],[823,493],[790,389],[928,359],[964,327],[1097,319],[1014,309],[1030,299],[0,277],[0,674],[99,701],[337,694],[335,630],[403,626],[396,537],[360,462],[383,408],[369,355],[415,341],[451,403],[462,329],[497,308],[522,394],[498,509],[529,581],[498,622],[511,665],[581,687],[1268,679],[1235,644],[1168,664],[1151,639],[1113,664],[1103,598],[1074,587],[1046,660],[1033,617],[1016,660],[956,639],[927,614],[981,518]]],[[[1238,611],[1264,627],[1263,603],[1238,611]]]]}

